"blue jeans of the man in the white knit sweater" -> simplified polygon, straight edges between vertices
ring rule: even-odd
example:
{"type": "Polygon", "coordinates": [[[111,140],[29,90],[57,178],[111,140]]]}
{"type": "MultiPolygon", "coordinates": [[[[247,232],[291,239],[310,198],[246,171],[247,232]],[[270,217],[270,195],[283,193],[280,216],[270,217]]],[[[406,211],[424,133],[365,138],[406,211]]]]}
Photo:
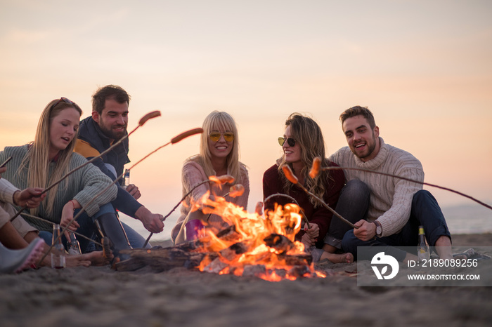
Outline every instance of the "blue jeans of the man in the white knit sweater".
{"type": "MultiPolygon", "coordinates": [[[[401,232],[389,236],[376,237],[369,241],[361,241],[354,235],[354,230],[351,229],[342,239],[342,249],[345,252],[352,253],[354,260],[357,260],[357,246],[382,246],[385,254],[392,255],[401,262],[405,259],[407,253],[400,248],[396,248],[396,246],[415,247],[415,253],[413,254],[416,254],[419,225],[424,227],[425,237],[429,246],[434,246],[440,236],[448,236],[451,239],[451,234],[439,204],[434,199],[434,196],[424,189],[413,195],[410,218],[401,229],[401,232]]],[[[374,248],[374,251],[369,251],[368,258],[359,258],[359,260],[370,260],[376,253],[381,251],[382,248],[374,248]]]]}

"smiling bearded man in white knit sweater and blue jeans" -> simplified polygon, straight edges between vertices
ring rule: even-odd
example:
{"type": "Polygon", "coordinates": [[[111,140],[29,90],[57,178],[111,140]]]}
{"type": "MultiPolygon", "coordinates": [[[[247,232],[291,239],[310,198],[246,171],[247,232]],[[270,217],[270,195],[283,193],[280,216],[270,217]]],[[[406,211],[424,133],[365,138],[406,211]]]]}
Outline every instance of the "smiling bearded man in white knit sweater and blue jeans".
{"type": "MultiPolygon", "coordinates": [[[[340,121],[349,146],[332,154],[330,161],[342,167],[369,169],[424,181],[420,161],[412,154],[384,143],[369,109],[351,107],[340,115],[340,121]]],[[[357,219],[360,220],[354,221],[358,229],[344,227],[343,251],[356,258],[357,246],[387,246],[387,253],[397,260],[415,260],[415,255],[392,246],[417,246],[418,226],[423,225],[429,245],[436,246],[440,258],[452,258],[451,234],[444,215],[432,194],[422,189],[422,184],[365,171],[345,169],[344,173],[347,185],[350,182],[358,183],[358,187],[367,185],[370,196],[354,199],[354,206],[364,208],[366,202],[367,216],[361,219],[364,217],[359,215],[357,219]],[[369,198],[370,203],[367,203],[369,198]]],[[[340,222],[332,220],[330,232],[337,228],[340,228],[340,222]]],[[[324,249],[332,252],[337,248],[336,237],[332,236],[334,243],[328,239],[330,234],[325,239],[324,249]]]]}

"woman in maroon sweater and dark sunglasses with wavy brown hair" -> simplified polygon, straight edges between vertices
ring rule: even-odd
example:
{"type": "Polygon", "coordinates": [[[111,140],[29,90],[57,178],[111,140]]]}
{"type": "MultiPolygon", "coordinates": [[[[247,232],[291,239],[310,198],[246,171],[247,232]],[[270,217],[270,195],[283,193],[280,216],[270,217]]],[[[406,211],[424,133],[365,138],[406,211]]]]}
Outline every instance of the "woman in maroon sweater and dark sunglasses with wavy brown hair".
{"type": "MultiPolygon", "coordinates": [[[[328,233],[332,213],[312,196],[287,180],[281,168],[284,164],[290,166],[299,183],[323,199],[328,206],[335,208],[340,191],[344,186],[343,171],[321,171],[316,178],[309,177],[309,171],[316,156],[323,158],[322,167],[335,165],[335,163],[325,159],[325,141],[321,128],[313,119],[294,112],[285,121],[285,132],[283,137],[278,138],[278,143],[283,149],[283,156],[263,175],[264,199],[272,194],[286,194],[299,203],[304,215],[309,220],[310,228],[307,229],[307,226],[305,229],[302,228],[297,233],[296,240],[302,241],[306,249],[311,251],[313,260],[354,261],[354,257],[350,253],[323,252],[321,249],[324,244],[323,239],[328,233]]],[[[265,210],[273,209],[275,203],[285,205],[292,203],[292,201],[285,196],[273,196],[266,201],[265,210]]]]}

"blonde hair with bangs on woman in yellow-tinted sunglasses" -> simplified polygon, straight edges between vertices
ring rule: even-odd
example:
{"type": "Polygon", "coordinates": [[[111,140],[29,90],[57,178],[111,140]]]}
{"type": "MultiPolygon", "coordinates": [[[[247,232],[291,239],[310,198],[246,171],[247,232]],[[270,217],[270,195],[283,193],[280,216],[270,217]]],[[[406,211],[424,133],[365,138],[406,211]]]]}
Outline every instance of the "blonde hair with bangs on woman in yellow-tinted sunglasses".
{"type": "Polygon", "coordinates": [[[235,183],[241,182],[241,167],[245,165],[239,161],[239,135],[238,127],[233,117],[227,112],[217,110],[211,112],[203,121],[203,133],[200,137],[200,154],[190,157],[188,160],[200,163],[207,176],[216,175],[212,166],[212,154],[209,150],[209,134],[212,131],[231,131],[234,134],[233,149],[226,158],[227,173],[233,176],[235,183]]]}

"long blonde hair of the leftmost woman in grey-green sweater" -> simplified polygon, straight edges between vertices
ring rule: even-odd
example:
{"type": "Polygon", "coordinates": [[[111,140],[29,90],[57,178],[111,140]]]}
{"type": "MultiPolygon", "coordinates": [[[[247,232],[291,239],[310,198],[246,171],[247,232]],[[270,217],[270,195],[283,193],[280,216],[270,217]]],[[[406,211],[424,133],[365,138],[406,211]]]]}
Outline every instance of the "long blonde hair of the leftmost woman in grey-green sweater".
{"type": "MultiPolygon", "coordinates": [[[[51,163],[49,160],[51,121],[67,108],[76,109],[82,116],[82,109],[75,103],[72,102],[72,104],[70,104],[60,100],[52,100],[44,107],[41,117],[39,117],[34,142],[31,143],[29,151],[24,159],[22,159],[18,168],[18,173],[27,170],[27,185],[29,187],[46,188],[53,182],[62,178],[63,175],[69,171],[70,159],[72,158],[75,142],[77,141],[77,134],[69,145],[58,153],[58,159],[55,162],[53,172],[49,175],[49,166],[51,163]]],[[[63,187],[67,189],[69,182],[64,180],[50,189],[48,194],[46,194],[46,199],[43,201],[44,209],[48,215],[53,213],[53,205],[60,185],[63,185],[63,187]]],[[[37,208],[31,209],[33,215],[36,215],[37,212],[37,208]]]]}

